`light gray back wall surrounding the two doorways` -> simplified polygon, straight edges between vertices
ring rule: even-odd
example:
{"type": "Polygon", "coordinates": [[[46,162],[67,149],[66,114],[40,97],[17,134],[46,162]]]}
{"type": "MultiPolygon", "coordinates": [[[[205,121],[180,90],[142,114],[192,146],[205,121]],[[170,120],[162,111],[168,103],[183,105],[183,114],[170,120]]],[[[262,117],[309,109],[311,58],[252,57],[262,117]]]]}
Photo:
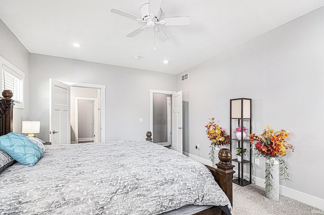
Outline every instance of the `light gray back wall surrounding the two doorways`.
{"type": "Polygon", "coordinates": [[[41,121],[37,136],[46,141],[50,78],[106,85],[106,140],[144,139],[149,130],[149,89],[176,89],[175,75],[36,54],[30,54],[30,75],[30,118],[41,121]]]}

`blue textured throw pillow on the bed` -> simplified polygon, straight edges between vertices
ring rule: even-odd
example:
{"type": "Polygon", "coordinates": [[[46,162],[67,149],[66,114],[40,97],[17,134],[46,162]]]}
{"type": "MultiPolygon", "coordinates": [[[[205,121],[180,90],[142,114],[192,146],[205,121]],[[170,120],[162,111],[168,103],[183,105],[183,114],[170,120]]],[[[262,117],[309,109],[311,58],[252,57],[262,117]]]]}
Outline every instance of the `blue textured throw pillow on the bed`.
{"type": "Polygon", "coordinates": [[[44,153],[35,143],[19,133],[0,136],[0,149],[17,160],[20,164],[34,166],[44,153]]]}

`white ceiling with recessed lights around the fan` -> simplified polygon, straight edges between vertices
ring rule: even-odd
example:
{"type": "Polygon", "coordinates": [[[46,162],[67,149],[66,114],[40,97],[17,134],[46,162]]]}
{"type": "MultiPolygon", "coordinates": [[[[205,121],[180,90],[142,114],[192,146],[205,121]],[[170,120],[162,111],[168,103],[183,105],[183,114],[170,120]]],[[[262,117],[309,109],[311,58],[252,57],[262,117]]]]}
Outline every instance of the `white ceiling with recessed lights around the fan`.
{"type": "Polygon", "coordinates": [[[0,19],[31,53],[178,74],[280,25],[324,6],[324,0],[163,0],[160,19],[189,16],[190,25],[125,35],[140,23],[148,0],[0,0],[0,19]],[[78,42],[82,47],[75,48],[78,42]],[[135,60],[134,56],[141,56],[135,60]],[[168,60],[169,64],[164,64],[168,60]]]}

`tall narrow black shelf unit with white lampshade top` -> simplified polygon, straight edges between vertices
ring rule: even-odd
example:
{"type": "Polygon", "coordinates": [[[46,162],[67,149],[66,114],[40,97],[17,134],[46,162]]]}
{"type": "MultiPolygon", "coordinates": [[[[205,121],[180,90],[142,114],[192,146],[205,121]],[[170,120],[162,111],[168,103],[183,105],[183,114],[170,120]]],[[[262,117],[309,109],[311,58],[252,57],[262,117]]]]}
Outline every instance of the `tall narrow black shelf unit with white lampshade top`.
{"type": "Polygon", "coordinates": [[[244,148],[249,152],[249,159],[243,159],[238,161],[237,159],[232,159],[233,165],[237,164],[237,177],[233,178],[233,183],[240,186],[246,186],[252,183],[252,149],[250,146],[249,134],[252,133],[252,99],[251,98],[234,98],[230,99],[230,150],[232,154],[236,154],[236,148],[240,147],[242,150],[244,148]],[[240,125],[241,127],[247,127],[249,130],[247,132],[246,139],[241,135],[241,139],[238,139],[233,133],[234,129],[240,125]],[[249,167],[249,179],[244,179],[244,170],[249,167]]]}

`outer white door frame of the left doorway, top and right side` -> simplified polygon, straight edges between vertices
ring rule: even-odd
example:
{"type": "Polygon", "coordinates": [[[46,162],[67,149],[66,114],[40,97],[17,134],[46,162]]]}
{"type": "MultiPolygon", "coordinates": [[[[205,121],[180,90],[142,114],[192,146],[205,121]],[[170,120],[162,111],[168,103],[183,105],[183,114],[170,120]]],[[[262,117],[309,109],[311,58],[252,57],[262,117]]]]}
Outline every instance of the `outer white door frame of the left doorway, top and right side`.
{"type": "Polygon", "coordinates": [[[106,85],[62,81],[73,87],[100,89],[100,141],[106,141],[106,85]]]}

